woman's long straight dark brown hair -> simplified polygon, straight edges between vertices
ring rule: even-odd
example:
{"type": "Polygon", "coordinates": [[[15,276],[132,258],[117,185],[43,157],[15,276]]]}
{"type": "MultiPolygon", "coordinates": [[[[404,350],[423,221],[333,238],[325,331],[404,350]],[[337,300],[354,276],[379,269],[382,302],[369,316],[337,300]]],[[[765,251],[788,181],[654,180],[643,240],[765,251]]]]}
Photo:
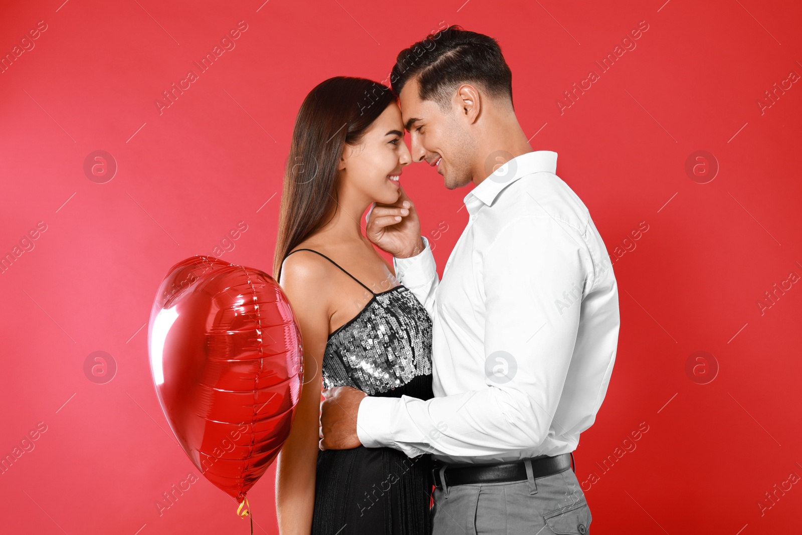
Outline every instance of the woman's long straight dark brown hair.
{"type": "Polygon", "coordinates": [[[295,119],[284,172],[273,256],[276,281],[281,279],[287,253],[334,217],[337,165],[345,144],[358,144],[394,102],[389,87],[351,76],[324,80],[306,95],[295,119]]]}

